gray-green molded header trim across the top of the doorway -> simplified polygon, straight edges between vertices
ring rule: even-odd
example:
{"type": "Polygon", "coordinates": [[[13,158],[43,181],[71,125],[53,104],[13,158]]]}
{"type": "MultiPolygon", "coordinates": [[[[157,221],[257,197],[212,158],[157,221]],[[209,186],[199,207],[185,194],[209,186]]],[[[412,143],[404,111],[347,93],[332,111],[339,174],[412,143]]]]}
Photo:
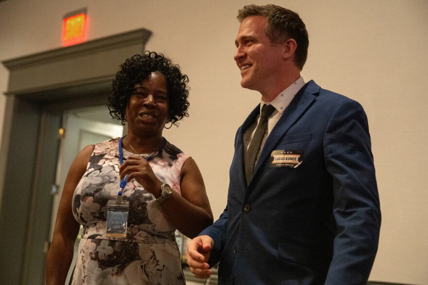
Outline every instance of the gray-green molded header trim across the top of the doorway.
{"type": "Polygon", "coordinates": [[[143,53],[151,32],[138,29],[78,45],[2,61],[9,69],[5,95],[92,83],[111,83],[126,58],[143,53]]]}

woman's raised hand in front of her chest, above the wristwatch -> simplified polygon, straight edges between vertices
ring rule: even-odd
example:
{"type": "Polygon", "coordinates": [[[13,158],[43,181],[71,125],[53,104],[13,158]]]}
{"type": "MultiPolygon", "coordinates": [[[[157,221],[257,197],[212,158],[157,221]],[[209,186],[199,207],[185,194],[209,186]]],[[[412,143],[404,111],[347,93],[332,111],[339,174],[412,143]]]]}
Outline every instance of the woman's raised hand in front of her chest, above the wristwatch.
{"type": "Polygon", "coordinates": [[[128,175],[126,182],[135,179],[140,183],[144,190],[160,196],[160,185],[162,182],[156,177],[152,167],[143,157],[139,155],[130,155],[119,168],[120,179],[124,179],[128,175]]]}

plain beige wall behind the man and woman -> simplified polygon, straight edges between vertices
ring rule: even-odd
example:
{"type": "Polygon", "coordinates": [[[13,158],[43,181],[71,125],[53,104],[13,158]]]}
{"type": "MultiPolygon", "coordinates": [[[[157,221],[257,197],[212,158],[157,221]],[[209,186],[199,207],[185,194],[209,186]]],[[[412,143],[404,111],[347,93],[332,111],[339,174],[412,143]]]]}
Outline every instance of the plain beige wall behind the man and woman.
{"type": "MultiPolygon", "coordinates": [[[[383,213],[370,279],[428,284],[428,1],[272,2],[299,12],[306,23],[305,81],[359,101],[369,117],[383,213]]],[[[246,3],[0,1],[0,60],[61,47],[63,15],[82,7],[88,8],[88,40],[151,30],[146,48],[180,64],[192,88],[190,117],[165,136],[196,160],[218,217],[226,203],[235,131],[260,97],[240,87],[232,60],[235,16],[246,3]]],[[[0,66],[0,91],[7,90],[7,81],[0,66]]],[[[4,104],[0,95],[0,130],[4,104]]]]}

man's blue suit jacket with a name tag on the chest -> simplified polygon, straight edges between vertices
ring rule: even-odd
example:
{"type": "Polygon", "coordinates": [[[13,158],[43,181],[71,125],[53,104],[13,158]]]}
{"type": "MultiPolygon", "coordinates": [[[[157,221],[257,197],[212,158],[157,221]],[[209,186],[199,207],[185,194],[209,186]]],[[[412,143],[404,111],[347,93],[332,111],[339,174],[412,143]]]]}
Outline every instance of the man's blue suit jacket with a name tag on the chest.
{"type": "Polygon", "coordinates": [[[380,206],[365,112],[310,81],[267,137],[247,186],[238,129],[227,207],[200,235],[214,239],[220,285],[367,284],[380,206]],[[275,150],[302,151],[297,168],[271,168],[275,150]]]}

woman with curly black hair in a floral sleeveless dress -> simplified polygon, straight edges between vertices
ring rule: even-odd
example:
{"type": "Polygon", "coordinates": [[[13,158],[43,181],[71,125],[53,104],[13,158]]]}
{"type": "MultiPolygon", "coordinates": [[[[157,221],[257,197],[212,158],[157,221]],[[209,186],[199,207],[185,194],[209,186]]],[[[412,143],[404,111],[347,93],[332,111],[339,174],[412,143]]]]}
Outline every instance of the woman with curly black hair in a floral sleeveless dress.
{"type": "Polygon", "coordinates": [[[188,117],[187,83],[178,65],[155,52],[121,66],[107,106],[112,117],[127,122],[128,132],[87,146],[72,163],[47,257],[47,284],[64,284],[80,224],[72,284],[185,284],[175,230],[193,238],[213,223],[195,161],[162,136],[166,123],[188,117]],[[111,217],[119,217],[110,216],[117,214],[114,205],[128,206],[127,219],[120,214],[127,225],[113,224],[111,217]]]}

